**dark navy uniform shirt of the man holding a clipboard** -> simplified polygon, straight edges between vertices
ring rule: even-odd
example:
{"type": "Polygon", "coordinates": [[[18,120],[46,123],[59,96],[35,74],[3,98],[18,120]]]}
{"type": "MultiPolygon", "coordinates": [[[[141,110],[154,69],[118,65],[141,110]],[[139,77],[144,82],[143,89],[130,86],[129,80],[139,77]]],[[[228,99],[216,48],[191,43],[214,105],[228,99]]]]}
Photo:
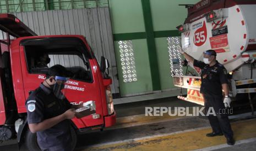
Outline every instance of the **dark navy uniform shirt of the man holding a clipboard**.
{"type": "MultiPolygon", "coordinates": [[[[71,107],[67,99],[60,100],[43,84],[33,91],[26,101],[28,124],[63,114],[71,107]]],[[[36,132],[42,150],[66,150],[71,142],[70,121],[63,120],[50,129],[36,132]]]]}

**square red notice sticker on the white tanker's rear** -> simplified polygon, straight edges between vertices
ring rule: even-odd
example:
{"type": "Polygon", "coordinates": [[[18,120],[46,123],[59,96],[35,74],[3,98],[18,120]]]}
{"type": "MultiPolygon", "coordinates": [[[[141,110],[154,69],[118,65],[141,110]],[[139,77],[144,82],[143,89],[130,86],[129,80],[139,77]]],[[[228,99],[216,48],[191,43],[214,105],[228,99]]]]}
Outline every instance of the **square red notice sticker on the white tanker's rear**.
{"type": "Polygon", "coordinates": [[[230,51],[228,45],[227,34],[221,34],[220,36],[210,37],[211,49],[214,49],[216,53],[225,53],[230,51]]]}

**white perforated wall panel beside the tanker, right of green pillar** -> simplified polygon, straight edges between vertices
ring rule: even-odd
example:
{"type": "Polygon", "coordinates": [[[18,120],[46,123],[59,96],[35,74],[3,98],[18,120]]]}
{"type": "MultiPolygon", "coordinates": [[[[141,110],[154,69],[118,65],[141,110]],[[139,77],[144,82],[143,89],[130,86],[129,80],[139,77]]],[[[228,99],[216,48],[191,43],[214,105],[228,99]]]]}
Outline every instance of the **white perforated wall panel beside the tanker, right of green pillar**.
{"type": "Polygon", "coordinates": [[[181,65],[180,37],[167,37],[168,53],[171,67],[171,75],[183,75],[181,65]]]}

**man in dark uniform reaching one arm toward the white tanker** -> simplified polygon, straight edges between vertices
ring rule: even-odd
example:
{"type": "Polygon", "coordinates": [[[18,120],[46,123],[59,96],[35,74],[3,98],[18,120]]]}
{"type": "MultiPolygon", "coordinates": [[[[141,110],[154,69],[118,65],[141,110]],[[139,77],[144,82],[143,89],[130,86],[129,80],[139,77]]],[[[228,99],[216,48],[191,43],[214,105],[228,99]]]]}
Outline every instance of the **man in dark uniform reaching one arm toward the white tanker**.
{"type": "Polygon", "coordinates": [[[211,107],[216,113],[216,116],[208,116],[213,132],[206,134],[206,136],[222,136],[224,133],[227,144],[235,144],[228,116],[225,113],[220,113],[222,109],[230,107],[231,103],[231,99],[228,96],[229,88],[226,68],[216,60],[216,52],[214,50],[204,51],[204,62],[195,60],[182,49],[179,49],[179,52],[183,54],[189,62],[192,62],[195,67],[201,68],[200,93],[204,96],[205,111],[207,113],[211,107]],[[224,99],[222,97],[222,89],[225,92],[224,99]]]}

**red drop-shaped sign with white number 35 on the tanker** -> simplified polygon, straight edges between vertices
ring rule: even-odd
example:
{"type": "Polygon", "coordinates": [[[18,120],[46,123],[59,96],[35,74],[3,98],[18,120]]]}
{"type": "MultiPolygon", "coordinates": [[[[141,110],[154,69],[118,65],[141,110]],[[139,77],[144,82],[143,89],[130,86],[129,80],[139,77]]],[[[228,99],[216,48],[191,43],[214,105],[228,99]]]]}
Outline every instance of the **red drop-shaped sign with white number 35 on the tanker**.
{"type": "Polygon", "coordinates": [[[199,47],[201,45],[203,45],[206,42],[207,39],[207,30],[206,30],[206,25],[205,25],[205,21],[202,27],[198,28],[195,31],[194,34],[194,44],[199,47]]]}

